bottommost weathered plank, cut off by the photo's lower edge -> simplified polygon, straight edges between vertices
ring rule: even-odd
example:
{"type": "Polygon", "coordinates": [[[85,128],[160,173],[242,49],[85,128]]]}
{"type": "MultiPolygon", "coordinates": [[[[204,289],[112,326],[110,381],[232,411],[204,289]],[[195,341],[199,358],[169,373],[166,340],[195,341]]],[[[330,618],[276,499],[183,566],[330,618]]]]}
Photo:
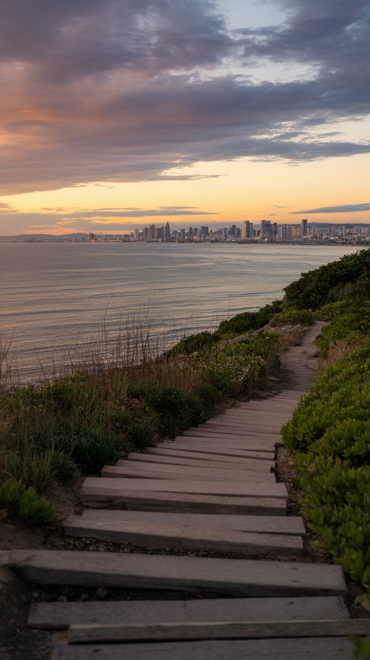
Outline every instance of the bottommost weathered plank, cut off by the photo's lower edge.
{"type": "Polygon", "coordinates": [[[353,648],[343,637],[66,644],[51,660],[350,660],[353,648]]]}

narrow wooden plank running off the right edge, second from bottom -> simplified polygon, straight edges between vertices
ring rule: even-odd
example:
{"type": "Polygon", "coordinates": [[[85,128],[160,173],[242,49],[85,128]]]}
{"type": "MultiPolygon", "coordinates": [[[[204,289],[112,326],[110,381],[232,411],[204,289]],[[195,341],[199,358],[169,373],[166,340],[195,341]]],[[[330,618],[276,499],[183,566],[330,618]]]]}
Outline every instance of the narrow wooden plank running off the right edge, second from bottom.
{"type": "Polygon", "coordinates": [[[119,644],[170,640],[266,640],[370,634],[369,619],[311,621],[191,622],[160,624],[72,624],[69,644],[119,644]]]}

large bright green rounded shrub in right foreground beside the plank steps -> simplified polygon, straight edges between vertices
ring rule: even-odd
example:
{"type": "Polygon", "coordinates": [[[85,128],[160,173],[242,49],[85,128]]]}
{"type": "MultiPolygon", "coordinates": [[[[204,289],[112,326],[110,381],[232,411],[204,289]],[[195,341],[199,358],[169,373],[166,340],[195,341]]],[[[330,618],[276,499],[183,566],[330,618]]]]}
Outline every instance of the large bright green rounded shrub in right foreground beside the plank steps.
{"type": "Polygon", "coordinates": [[[309,526],[370,588],[370,343],[330,366],[282,427],[309,526]]]}

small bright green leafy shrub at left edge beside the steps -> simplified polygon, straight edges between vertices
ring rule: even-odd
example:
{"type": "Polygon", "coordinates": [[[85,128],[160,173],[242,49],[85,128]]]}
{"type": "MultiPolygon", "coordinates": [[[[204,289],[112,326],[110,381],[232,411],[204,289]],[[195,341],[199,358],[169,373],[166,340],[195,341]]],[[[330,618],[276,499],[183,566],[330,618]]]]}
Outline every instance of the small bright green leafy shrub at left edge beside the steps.
{"type": "Polygon", "coordinates": [[[0,504],[30,525],[46,525],[56,517],[53,506],[38,497],[34,488],[25,490],[22,481],[5,481],[0,488],[0,504]]]}

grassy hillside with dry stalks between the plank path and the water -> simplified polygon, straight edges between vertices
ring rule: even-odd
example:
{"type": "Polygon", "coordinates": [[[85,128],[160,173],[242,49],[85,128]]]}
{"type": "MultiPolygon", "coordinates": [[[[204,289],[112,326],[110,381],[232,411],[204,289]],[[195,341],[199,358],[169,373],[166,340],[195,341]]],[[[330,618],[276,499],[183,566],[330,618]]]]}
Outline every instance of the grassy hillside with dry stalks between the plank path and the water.
{"type": "Polygon", "coordinates": [[[312,315],[295,313],[293,323],[290,317],[281,323],[281,310],[274,302],[239,314],[160,355],[151,352],[149,329],[139,324],[139,331],[126,329],[109,354],[90,350],[58,376],[27,387],[12,386],[3,369],[0,505],[14,510],[14,498],[26,488],[39,494],[54,481],[99,475],[121,455],[205,422],[223,399],[263,389],[280,364],[278,352],[299,343],[302,320],[312,322],[312,315]],[[12,483],[18,490],[9,490],[12,483]]]}

